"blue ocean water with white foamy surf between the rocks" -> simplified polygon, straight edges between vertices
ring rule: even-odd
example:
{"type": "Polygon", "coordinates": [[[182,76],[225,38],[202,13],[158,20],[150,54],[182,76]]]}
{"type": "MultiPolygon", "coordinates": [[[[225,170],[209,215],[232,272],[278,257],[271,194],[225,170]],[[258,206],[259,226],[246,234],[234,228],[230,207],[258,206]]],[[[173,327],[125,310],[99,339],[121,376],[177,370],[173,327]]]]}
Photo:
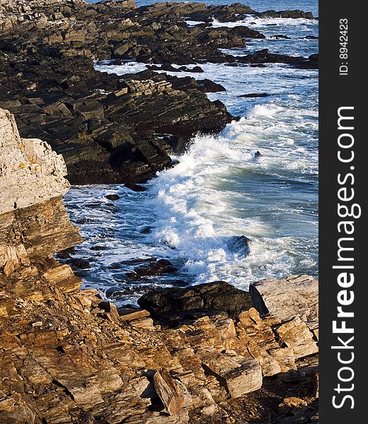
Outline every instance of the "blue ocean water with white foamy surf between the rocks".
{"type": "MultiPolygon", "coordinates": [[[[248,4],[255,10],[301,8],[314,13],[318,6],[309,0],[248,4]]],[[[266,39],[226,52],[242,55],[266,47],[301,56],[318,52],[318,40],[304,38],[318,35],[318,20],[249,16],[241,23],[213,23],[241,24],[260,30],[266,39]],[[291,40],[272,37],[277,34],[291,40]]],[[[226,92],[208,97],[224,102],[240,120],[217,136],[195,136],[188,151],[176,158],[178,165],[159,172],[146,184],[146,192],[123,185],[88,186],[73,187],[65,196],[84,237],[74,256],[91,261],[91,269],[81,271],[84,285],[102,294],[119,287],[120,304],[178,281],[190,285],[224,280],[248,289],[251,282],[270,276],[318,275],[318,71],[283,64],[200,66],[205,73],[173,75],[221,83],[226,92]],[[251,93],[267,96],[243,97],[251,93]],[[109,201],[106,194],[119,194],[120,199],[109,201]],[[142,232],[147,227],[148,234],[142,232]],[[248,238],[248,246],[241,236],[248,238]],[[137,259],[149,258],[169,259],[178,271],[130,280],[127,272],[134,270],[137,259]]],[[[122,75],[146,67],[132,61],[97,64],[96,69],[122,75]]]]}

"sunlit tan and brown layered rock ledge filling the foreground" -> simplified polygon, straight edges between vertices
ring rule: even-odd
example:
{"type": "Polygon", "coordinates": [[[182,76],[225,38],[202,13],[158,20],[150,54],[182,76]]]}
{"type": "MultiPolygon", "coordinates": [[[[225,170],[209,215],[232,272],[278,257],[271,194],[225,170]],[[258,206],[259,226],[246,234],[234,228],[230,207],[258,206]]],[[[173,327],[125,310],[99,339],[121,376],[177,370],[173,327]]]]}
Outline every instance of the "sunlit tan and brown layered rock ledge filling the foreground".
{"type": "MultiPolygon", "coordinates": [[[[0,128],[13,131],[1,139],[11,179],[25,153],[11,115],[1,113],[0,128]]],[[[62,168],[47,147],[38,160],[62,168]]],[[[0,214],[1,423],[266,423],[263,413],[290,423],[300,408],[316,422],[314,278],[255,283],[254,307],[166,329],[148,310],[117,310],[97,290],[81,290],[70,266],[52,257],[81,238],[60,197],[67,183],[38,175],[42,201],[28,196],[0,214]]],[[[16,196],[1,190],[0,200],[16,196]]]]}

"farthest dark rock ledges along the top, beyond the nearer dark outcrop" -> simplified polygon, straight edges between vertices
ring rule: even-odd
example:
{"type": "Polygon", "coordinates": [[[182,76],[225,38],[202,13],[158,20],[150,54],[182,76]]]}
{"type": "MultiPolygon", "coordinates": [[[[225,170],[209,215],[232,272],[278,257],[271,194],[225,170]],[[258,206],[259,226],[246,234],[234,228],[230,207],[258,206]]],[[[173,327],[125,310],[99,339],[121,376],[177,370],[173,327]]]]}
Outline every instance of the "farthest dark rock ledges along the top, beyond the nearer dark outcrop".
{"type": "Polygon", "coordinates": [[[132,1],[92,5],[68,0],[16,1],[2,8],[0,48],[23,54],[31,49],[33,54],[47,57],[83,54],[95,59],[124,58],[153,63],[236,61],[236,57],[219,49],[244,47],[247,39],[265,36],[246,26],[192,28],[184,18],[232,21],[241,20],[248,13],[261,17],[313,18],[310,12],[302,11],[257,13],[243,4],[206,6],[168,2],[135,8],[132,1]]]}

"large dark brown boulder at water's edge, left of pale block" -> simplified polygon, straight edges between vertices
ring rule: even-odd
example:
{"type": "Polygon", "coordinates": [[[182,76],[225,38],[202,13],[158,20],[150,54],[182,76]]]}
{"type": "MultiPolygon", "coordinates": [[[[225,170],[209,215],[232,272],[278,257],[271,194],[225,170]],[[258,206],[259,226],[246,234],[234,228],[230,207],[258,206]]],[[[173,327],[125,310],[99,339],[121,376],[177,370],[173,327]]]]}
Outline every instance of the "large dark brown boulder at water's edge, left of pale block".
{"type": "Polygon", "coordinates": [[[155,317],[169,317],[183,311],[211,310],[235,316],[251,307],[251,295],[224,281],[192,285],[189,288],[163,288],[146,293],[138,304],[155,317]]]}

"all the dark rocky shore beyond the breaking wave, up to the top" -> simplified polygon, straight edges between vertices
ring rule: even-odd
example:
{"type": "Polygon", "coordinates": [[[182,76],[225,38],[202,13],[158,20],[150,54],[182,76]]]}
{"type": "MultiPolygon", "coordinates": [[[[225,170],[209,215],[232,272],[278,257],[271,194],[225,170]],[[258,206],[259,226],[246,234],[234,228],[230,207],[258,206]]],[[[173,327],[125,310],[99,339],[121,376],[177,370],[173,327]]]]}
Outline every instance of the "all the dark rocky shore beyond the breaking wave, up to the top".
{"type": "Polygon", "coordinates": [[[246,13],[313,18],[301,11],[258,13],[243,4],[7,1],[0,6],[0,107],[15,114],[21,136],[40,137],[64,156],[72,184],[145,182],[170,167],[168,153],[183,151],[194,134],[217,133],[234,119],[205,94],[224,87],[154,71],[106,75],[93,63],[136,60],[171,70],[196,64],[199,71],[205,61],[318,66],[316,55],[224,54],[221,49],[265,37],[246,26],[211,26],[214,18],[241,20],[246,13]],[[188,18],[205,23],[192,27],[188,18]]]}

